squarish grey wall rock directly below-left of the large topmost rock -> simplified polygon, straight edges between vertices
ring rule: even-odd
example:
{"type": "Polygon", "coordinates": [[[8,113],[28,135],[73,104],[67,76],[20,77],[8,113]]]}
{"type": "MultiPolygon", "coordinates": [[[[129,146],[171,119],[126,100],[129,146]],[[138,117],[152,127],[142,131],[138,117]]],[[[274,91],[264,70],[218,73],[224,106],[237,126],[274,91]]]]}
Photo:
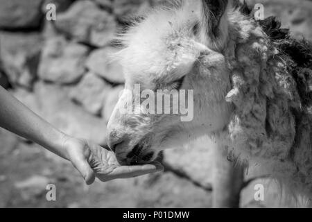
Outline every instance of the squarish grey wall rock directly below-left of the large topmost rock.
{"type": "Polygon", "coordinates": [[[77,82],[85,73],[84,62],[89,49],[63,37],[46,41],[38,75],[42,80],[59,84],[77,82]]]}

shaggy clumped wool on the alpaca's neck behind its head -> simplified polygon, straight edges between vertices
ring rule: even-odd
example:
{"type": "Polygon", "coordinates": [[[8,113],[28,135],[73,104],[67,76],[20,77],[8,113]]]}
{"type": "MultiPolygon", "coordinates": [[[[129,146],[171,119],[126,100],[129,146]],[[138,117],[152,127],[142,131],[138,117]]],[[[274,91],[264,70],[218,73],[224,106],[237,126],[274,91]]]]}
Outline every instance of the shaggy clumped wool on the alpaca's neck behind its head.
{"type": "Polygon", "coordinates": [[[243,5],[229,15],[229,151],[311,196],[311,44],[291,39],[274,17],[257,23],[249,14],[243,5]]]}

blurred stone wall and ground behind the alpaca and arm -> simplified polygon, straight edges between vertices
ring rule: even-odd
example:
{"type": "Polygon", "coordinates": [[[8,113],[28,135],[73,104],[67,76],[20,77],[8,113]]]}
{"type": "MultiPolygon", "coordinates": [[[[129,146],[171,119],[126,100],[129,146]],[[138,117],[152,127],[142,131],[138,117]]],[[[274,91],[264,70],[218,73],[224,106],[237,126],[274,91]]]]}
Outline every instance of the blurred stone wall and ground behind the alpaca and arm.
{"type": "MultiPolygon", "coordinates": [[[[170,0],[169,0],[170,1],[170,0]]],[[[123,89],[121,67],[108,63],[112,37],[160,0],[0,0],[0,85],[69,135],[105,142],[106,123],[123,89]],[[56,20],[46,6],[56,6],[56,20]]],[[[312,40],[312,1],[257,0],[298,39],[312,40]]],[[[0,103],[1,104],[1,103],[0,103]]],[[[164,152],[164,173],[95,182],[87,187],[71,164],[0,130],[0,207],[211,207],[211,150],[164,152]],[[46,200],[46,185],[56,201],[46,200]]],[[[241,207],[295,207],[274,181],[249,169],[241,207]],[[254,185],[265,200],[254,200],[254,185]]],[[[297,205],[302,207],[303,205],[297,205]]]]}

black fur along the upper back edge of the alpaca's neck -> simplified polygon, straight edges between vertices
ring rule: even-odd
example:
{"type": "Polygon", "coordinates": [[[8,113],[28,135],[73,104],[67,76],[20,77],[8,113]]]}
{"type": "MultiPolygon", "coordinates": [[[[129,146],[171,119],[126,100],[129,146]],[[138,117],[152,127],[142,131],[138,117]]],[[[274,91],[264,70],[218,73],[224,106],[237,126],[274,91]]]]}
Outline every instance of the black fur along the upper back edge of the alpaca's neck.
{"type": "MultiPolygon", "coordinates": [[[[251,15],[252,10],[244,1],[235,1],[243,15],[251,15]]],[[[290,37],[287,28],[281,28],[281,23],[275,17],[257,21],[263,31],[270,37],[272,43],[279,49],[289,64],[288,69],[297,83],[297,90],[303,108],[312,106],[312,44],[306,40],[295,40],[290,37]]]]}

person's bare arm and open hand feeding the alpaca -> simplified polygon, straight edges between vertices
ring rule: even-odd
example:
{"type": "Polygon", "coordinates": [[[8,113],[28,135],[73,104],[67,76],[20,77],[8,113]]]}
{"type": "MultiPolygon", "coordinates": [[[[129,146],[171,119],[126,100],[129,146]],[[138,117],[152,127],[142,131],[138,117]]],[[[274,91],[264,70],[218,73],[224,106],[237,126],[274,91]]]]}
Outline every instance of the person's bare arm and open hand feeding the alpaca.
{"type": "Polygon", "coordinates": [[[101,146],[62,133],[29,110],[0,86],[0,127],[40,144],[49,151],[71,161],[87,184],[97,176],[102,181],[131,178],[161,171],[162,166],[120,167],[110,151],[101,146]]]}

